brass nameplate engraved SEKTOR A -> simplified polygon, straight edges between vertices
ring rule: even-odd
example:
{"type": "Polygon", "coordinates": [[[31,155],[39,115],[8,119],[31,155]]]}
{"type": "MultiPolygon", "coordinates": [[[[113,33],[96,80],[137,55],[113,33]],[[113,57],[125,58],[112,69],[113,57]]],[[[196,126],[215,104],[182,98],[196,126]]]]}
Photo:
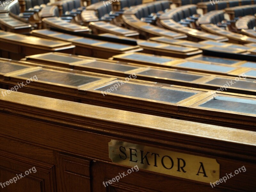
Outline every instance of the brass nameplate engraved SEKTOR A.
{"type": "Polygon", "coordinates": [[[108,143],[108,150],[113,163],[138,165],[140,169],[204,183],[220,179],[220,164],[216,159],[117,140],[108,143]]]}

